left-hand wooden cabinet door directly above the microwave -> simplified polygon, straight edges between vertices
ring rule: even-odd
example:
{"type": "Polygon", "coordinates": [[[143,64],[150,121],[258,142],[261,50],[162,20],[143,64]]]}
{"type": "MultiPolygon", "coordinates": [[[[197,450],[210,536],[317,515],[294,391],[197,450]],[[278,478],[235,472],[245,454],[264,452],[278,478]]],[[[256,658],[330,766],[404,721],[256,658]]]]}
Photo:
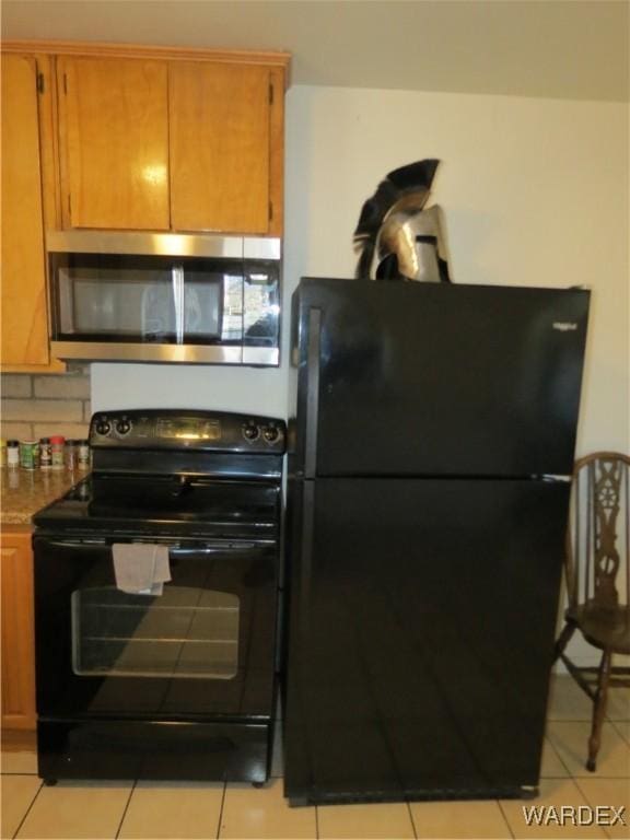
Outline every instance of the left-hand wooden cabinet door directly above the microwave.
{"type": "Polygon", "coordinates": [[[60,58],[67,226],[167,230],[167,63],[60,58]]]}

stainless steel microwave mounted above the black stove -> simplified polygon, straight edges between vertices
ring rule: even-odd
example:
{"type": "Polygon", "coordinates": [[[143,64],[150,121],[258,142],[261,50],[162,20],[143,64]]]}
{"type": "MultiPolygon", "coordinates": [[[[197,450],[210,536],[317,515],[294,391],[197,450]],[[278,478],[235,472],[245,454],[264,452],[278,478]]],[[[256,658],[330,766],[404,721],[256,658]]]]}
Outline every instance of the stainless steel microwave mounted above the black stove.
{"type": "Polygon", "coordinates": [[[278,365],[280,240],[47,235],[58,359],[278,365]]]}

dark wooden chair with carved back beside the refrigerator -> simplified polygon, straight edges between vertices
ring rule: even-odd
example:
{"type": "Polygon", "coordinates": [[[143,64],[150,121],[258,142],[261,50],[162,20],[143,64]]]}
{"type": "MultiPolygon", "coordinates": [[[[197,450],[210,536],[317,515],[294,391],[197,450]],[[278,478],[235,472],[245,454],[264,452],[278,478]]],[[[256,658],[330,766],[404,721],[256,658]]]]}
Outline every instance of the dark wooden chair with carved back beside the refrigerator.
{"type": "Polygon", "coordinates": [[[556,656],[593,700],[586,768],[595,770],[608,687],[630,686],[630,668],[612,667],[614,654],[630,654],[630,458],[597,452],[575,463],[567,535],[568,607],[556,656]],[[564,653],[580,630],[602,651],[598,668],[576,666],[564,653]]]}

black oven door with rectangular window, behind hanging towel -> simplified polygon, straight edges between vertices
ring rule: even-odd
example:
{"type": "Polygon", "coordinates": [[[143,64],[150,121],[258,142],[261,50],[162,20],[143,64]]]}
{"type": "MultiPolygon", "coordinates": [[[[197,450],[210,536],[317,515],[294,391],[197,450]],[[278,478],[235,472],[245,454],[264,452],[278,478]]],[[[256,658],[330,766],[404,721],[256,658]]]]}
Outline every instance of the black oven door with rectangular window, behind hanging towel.
{"type": "Polygon", "coordinates": [[[273,708],[273,541],[35,535],[39,716],[260,719],[273,708]],[[112,544],[168,546],[161,595],[118,588],[112,544]]]}

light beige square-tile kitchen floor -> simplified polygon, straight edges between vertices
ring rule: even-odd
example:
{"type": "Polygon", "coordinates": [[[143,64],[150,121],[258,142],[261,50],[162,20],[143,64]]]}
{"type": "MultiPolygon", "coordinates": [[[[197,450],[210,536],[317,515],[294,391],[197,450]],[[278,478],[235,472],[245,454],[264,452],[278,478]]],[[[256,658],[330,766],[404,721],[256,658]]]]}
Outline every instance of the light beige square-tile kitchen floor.
{"type": "MultiPolygon", "coordinates": [[[[32,739],[3,742],[2,838],[630,838],[630,690],[610,692],[598,769],[584,769],[591,703],[569,677],[553,681],[540,796],[530,802],[422,802],[290,808],[281,748],[262,790],[245,784],[59,782],[43,786],[32,739]],[[608,826],[527,825],[524,806],[596,806],[608,826]],[[623,807],[627,825],[615,814],[623,807]],[[612,808],[615,810],[612,810],[612,808]]],[[[580,810],[582,808],[582,810],[580,810]]],[[[540,813],[540,812],[538,812],[540,813]]],[[[552,814],[549,810],[547,814],[552,814]]]]}

